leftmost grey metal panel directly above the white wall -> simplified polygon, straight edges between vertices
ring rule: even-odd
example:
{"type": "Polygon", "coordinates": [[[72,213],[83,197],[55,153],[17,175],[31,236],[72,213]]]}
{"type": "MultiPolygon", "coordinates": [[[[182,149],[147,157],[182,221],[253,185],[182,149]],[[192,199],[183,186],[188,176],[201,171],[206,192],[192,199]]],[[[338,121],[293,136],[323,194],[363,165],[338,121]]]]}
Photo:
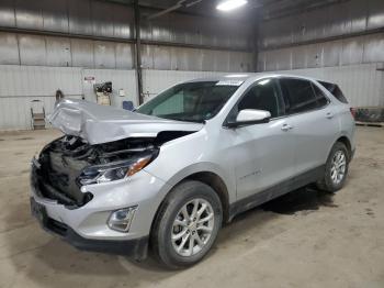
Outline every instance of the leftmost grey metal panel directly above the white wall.
{"type": "Polygon", "coordinates": [[[0,64],[20,64],[15,34],[0,32],[0,64]]]}

